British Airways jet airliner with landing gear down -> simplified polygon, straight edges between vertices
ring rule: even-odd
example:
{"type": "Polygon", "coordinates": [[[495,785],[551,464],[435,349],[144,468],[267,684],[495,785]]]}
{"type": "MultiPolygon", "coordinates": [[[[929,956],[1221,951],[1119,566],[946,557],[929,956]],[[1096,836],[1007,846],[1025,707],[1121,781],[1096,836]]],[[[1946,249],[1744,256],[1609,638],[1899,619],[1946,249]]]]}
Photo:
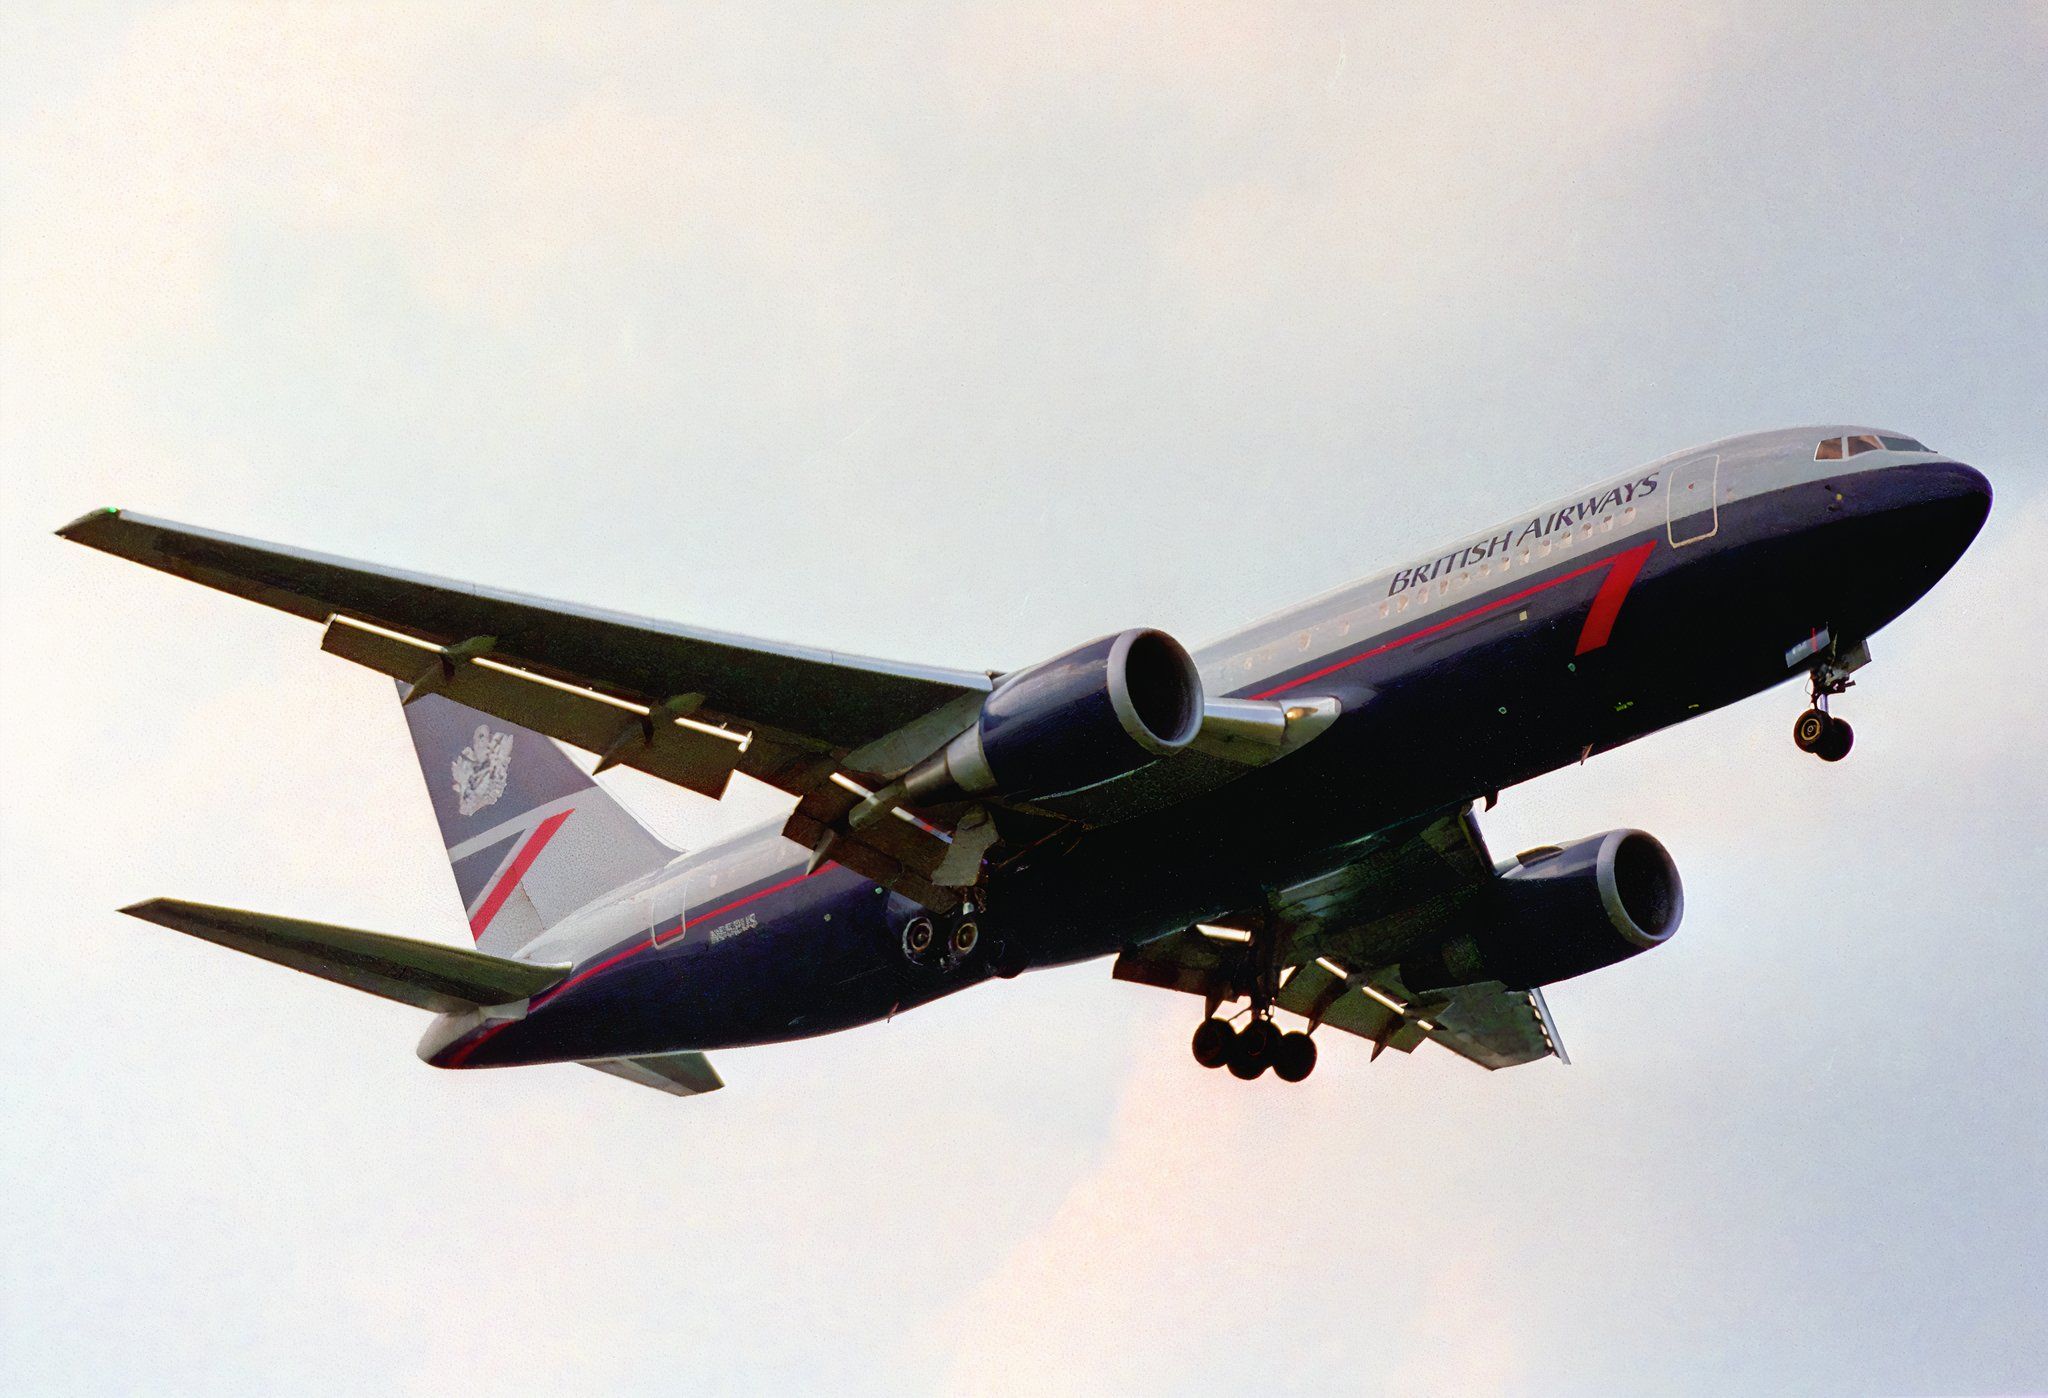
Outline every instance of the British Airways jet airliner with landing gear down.
{"type": "Polygon", "coordinates": [[[1200,999],[1194,1058],[1245,1081],[1309,1077],[1321,1030],[1372,1058],[1569,1062],[1542,989],[1669,942],[1677,866],[1638,829],[1495,860],[1475,804],[1794,678],[1794,743],[1839,761],[1831,700],[1989,510],[1978,471],[1909,436],[1731,436],[1194,653],[1130,628],[1012,671],[123,510],[57,532],[324,622],[322,649],[389,675],[475,948],[176,899],[125,913],[434,1011],[418,1052],[440,1068],[580,1062],[694,1095],[723,1085],[707,1052],[1102,956],[1200,999]],[[797,800],[682,854],[594,780],[616,766],[797,800]]]}

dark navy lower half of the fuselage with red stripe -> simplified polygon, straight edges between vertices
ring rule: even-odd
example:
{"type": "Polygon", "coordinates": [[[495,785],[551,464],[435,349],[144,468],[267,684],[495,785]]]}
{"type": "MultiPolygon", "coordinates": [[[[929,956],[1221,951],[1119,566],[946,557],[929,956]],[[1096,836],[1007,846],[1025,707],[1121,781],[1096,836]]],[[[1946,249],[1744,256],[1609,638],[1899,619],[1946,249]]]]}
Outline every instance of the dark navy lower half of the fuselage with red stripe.
{"type": "MultiPolygon", "coordinates": [[[[981,915],[987,946],[1004,950],[1006,970],[1049,966],[1223,917],[1348,864],[1401,821],[1794,678],[1804,665],[1788,651],[1823,628],[1868,639],[1954,565],[1991,489],[1950,461],[1851,465],[1720,501],[1710,530],[1688,526],[1694,536],[1659,501],[1630,514],[1632,528],[1522,569],[1503,561],[1499,577],[1405,626],[1395,612],[1356,645],[1231,690],[1331,696],[1343,714],[1313,745],[1227,786],[1001,866],[981,915]]],[[[803,851],[784,849],[772,872],[692,907],[680,929],[584,960],[522,1019],[477,1028],[434,1062],[805,1038],[995,974],[989,956],[909,962],[901,927],[913,905],[836,864],[805,876],[803,851]]]]}

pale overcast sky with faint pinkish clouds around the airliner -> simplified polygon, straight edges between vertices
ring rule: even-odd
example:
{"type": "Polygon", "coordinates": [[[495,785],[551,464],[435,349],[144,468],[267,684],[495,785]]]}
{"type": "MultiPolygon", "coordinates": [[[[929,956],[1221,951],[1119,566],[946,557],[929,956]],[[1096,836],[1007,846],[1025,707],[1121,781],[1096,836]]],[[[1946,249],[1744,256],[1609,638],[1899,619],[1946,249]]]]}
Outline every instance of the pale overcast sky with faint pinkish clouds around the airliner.
{"type": "Polygon", "coordinates": [[[2042,4],[6,6],[0,1388],[2048,1388],[2044,151],[2042,4]],[[1686,876],[1569,1068],[1092,964],[678,1101],[115,913],[465,937],[389,684],[88,508],[979,669],[1800,422],[1999,504],[1839,768],[1503,792],[1686,876]]]}

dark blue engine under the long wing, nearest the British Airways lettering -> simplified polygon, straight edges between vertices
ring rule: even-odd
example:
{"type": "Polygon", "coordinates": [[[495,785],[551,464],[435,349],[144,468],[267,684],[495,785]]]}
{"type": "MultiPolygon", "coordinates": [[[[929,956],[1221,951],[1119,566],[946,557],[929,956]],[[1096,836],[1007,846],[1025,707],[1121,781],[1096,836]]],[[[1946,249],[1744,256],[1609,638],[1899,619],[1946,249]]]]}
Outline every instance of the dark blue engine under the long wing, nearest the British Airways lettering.
{"type": "Polygon", "coordinates": [[[1055,796],[1165,757],[1202,727],[1202,675],[1163,630],[1122,630],[1010,673],[967,733],[903,778],[909,804],[1055,796]]]}

